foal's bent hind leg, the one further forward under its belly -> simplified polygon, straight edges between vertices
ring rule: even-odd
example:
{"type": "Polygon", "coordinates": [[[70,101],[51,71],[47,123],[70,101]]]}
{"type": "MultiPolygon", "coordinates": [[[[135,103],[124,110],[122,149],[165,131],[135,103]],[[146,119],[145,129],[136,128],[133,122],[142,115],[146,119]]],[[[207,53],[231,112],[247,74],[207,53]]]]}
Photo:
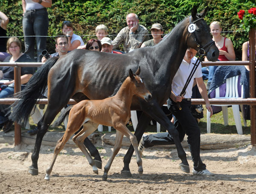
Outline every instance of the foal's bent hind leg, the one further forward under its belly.
{"type": "Polygon", "coordinates": [[[95,165],[95,162],[93,160],[93,158],[90,156],[90,154],[88,153],[88,151],[86,150],[85,146],[84,146],[84,139],[87,138],[87,136],[89,136],[91,133],[93,133],[99,124],[93,123],[93,122],[87,122],[84,124],[84,128],[83,131],[84,133],[78,133],[77,135],[79,136],[74,136],[73,137],[73,141],[76,143],[76,145],[80,148],[80,150],[84,153],[84,156],[87,158],[89,164],[93,167],[93,172],[98,174],[98,168],[95,165]]]}

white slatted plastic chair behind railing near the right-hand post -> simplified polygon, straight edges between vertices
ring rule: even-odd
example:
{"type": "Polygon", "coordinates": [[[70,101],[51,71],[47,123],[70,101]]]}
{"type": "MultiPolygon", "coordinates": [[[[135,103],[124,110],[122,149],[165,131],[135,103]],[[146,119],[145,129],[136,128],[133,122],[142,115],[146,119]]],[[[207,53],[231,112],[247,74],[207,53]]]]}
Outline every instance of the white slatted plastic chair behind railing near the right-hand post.
{"type": "MultiPolygon", "coordinates": [[[[239,75],[236,75],[232,78],[228,78],[226,80],[226,95],[224,97],[220,97],[219,87],[215,89],[215,98],[243,98],[243,85],[241,85],[241,97],[239,97],[238,93],[238,79],[239,75]]],[[[212,99],[215,99],[212,98],[212,99]]],[[[223,119],[224,119],[224,126],[228,125],[228,112],[227,106],[232,106],[233,115],[236,122],[236,130],[238,134],[243,134],[241,119],[240,119],[240,112],[239,112],[239,104],[214,104],[214,106],[221,106],[223,119]]],[[[243,107],[241,106],[241,111],[244,119],[243,107]]],[[[246,120],[244,119],[244,126],[246,126],[246,120]]],[[[210,112],[207,111],[207,133],[211,133],[211,118],[210,112]]]]}

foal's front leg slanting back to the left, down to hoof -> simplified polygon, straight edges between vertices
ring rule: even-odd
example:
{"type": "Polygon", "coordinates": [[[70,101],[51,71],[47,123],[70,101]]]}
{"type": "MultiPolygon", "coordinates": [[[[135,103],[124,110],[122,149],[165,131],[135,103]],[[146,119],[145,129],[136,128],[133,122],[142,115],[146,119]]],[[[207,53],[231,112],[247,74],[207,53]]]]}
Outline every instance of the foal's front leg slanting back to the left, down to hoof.
{"type": "Polygon", "coordinates": [[[108,171],[109,171],[109,169],[112,165],[112,162],[113,162],[116,154],[119,152],[119,150],[121,148],[123,136],[124,136],[124,134],[122,132],[120,132],[119,130],[116,130],[116,141],[115,141],[115,145],[113,147],[113,153],[112,153],[112,156],[110,157],[110,159],[108,160],[108,163],[105,165],[105,168],[104,168],[104,174],[103,174],[103,177],[102,177],[102,179],[104,181],[107,180],[108,171]]]}

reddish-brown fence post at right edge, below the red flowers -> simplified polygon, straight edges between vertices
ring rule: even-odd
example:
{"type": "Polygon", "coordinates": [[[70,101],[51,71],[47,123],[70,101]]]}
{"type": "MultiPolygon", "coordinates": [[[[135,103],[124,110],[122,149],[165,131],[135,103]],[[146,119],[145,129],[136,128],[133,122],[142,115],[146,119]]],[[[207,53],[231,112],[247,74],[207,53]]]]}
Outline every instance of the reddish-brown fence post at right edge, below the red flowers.
{"type": "MultiPolygon", "coordinates": [[[[255,29],[250,29],[249,32],[249,66],[250,66],[250,98],[256,97],[255,90],[255,29]]],[[[250,133],[251,133],[251,144],[256,145],[256,106],[250,106],[250,133]]]]}

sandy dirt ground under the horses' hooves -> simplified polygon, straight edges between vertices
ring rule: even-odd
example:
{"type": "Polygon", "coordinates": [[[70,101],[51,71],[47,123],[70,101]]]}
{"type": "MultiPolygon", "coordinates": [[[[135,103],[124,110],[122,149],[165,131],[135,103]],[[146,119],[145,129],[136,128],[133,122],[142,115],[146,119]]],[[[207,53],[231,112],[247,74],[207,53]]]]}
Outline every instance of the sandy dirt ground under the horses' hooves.
{"type": "MultiPolygon", "coordinates": [[[[146,149],[143,152],[144,174],[137,174],[135,155],[131,159],[132,178],[123,178],[122,149],[109,171],[108,181],[102,181],[103,170],[93,174],[78,148],[64,148],[58,156],[49,181],[44,180],[45,170],[52,158],[54,147],[42,146],[38,161],[39,174],[32,176],[27,167],[31,165],[32,145],[23,145],[15,152],[13,145],[0,144],[0,193],[68,193],[68,194],[256,194],[256,147],[201,151],[207,169],[215,177],[199,177],[183,174],[178,169],[180,160],[174,149],[146,149]]],[[[112,153],[104,147],[99,150],[103,165],[112,153]]],[[[185,150],[192,171],[190,152],[185,150]]]]}

